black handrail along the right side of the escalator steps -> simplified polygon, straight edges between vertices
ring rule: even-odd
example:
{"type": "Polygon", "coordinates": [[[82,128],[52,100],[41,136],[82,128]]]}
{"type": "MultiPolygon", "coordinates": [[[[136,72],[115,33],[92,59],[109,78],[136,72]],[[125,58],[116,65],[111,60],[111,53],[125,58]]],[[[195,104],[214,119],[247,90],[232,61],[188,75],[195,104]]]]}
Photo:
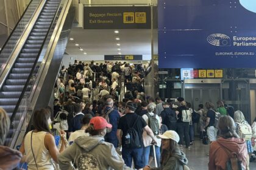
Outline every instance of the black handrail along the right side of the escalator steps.
{"type": "MultiPolygon", "coordinates": [[[[22,99],[23,99],[23,96],[24,96],[24,94],[25,94],[25,92],[26,92],[27,86],[29,86],[30,79],[32,78],[32,75],[33,75],[33,72],[34,72],[34,70],[35,70],[35,67],[37,66],[37,62],[38,62],[38,59],[40,58],[41,52],[42,52],[42,50],[43,50],[44,43],[46,42],[46,39],[48,38],[49,33],[50,33],[51,29],[52,29],[52,25],[54,24],[55,18],[56,18],[56,16],[57,16],[58,11],[59,11],[59,8],[60,8],[60,6],[61,6],[61,2],[62,2],[62,1],[60,1],[59,7],[58,7],[58,9],[57,9],[56,12],[55,12],[54,18],[52,18],[52,21],[51,21],[51,24],[50,24],[50,26],[49,26],[49,29],[48,29],[48,31],[47,31],[47,33],[46,33],[46,36],[44,37],[43,43],[42,43],[42,45],[41,45],[41,47],[40,47],[40,50],[39,50],[39,52],[38,52],[37,58],[35,59],[34,65],[33,65],[32,69],[31,69],[31,71],[30,71],[30,73],[29,73],[29,77],[27,78],[26,84],[24,85],[23,90],[22,90],[22,92],[21,92],[21,95],[20,95],[20,97],[19,97],[19,100],[18,100],[18,102],[16,103],[15,109],[13,110],[12,117],[10,118],[11,124],[12,124],[13,120],[15,119],[16,113],[17,113],[18,108],[19,108],[19,106],[20,106],[20,104],[21,104],[21,101],[22,101],[22,99]]],[[[44,5],[44,6],[45,6],[45,5],[44,5]]]]}

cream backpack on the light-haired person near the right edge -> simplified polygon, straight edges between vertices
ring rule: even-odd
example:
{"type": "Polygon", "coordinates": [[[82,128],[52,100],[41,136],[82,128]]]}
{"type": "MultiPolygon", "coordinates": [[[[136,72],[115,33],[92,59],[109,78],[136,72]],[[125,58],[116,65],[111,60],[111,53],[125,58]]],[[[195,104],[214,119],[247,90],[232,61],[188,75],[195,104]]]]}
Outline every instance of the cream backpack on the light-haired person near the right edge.
{"type": "Polygon", "coordinates": [[[236,132],[238,133],[240,138],[244,140],[251,140],[252,138],[252,127],[246,122],[242,121],[241,123],[237,123],[236,132]]]}

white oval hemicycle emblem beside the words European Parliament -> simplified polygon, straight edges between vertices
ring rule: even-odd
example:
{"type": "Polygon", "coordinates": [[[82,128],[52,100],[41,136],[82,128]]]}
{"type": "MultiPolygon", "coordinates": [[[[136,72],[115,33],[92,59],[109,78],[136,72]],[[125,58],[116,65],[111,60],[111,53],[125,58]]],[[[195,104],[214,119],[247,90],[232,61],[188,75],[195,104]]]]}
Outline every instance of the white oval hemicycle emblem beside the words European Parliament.
{"type": "Polygon", "coordinates": [[[223,33],[213,33],[207,37],[207,41],[213,46],[230,46],[230,38],[223,33]]]}

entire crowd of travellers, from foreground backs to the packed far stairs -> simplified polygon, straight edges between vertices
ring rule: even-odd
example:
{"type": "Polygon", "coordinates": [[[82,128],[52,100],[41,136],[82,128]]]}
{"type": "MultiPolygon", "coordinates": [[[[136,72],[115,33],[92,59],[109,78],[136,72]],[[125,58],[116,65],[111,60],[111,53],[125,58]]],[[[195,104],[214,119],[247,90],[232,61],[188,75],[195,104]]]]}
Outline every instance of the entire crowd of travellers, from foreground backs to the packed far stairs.
{"type": "Polygon", "coordinates": [[[31,131],[24,137],[20,152],[3,146],[10,121],[0,109],[0,169],[13,169],[20,162],[33,170],[190,169],[183,151],[193,147],[197,133],[201,140],[206,137],[210,141],[208,169],[249,169],[256,118],[250,126],[240,110],[235,111],[223,100],[217,102],[217,109],[211,102],[194,109],[182,97],[174,101],[145,97],[143,89],[138,88],[143,73],[127,71],[131,69],[127,63],[114,66],[123,70],[127,83],[137,85],[133,84],[123,101],[118,101],[112,93],[102,92],[118,78],[117,74],[109,77],[115,69],[112,66],[110,71],[108,65],[112,64],[107,62],[107,69],[99,73],[96,67],[103,65],[92,62],[83,66],[78,62],[67,70],[62,68],[61,74],[67,72],[69,79],[57,85],[63,87],[61,99],[55,99],[52,113],[49,107],[35,110],[31,131]],[[95,74],[90,77],[85,72],[95,74]],[[100,80],[95,86],[102,90],[101,98],[90,102],[93,76],[100,80]],[[63,93],[68,95],[62,98],[63,93]],[[245,126],[248,133],[242,128],[245,126]]]}

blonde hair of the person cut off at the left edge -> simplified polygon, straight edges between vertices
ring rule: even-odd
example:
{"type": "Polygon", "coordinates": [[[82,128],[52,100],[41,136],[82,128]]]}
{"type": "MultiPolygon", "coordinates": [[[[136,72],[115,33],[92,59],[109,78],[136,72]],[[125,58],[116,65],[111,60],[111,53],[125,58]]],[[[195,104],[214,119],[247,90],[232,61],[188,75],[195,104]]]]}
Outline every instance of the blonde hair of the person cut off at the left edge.
{"type": "Polygon", "coordinates": [[[0,145],[4,145],[5,138],[9,132],[10,119],[2,107],[0,107],[0,145]]]}

